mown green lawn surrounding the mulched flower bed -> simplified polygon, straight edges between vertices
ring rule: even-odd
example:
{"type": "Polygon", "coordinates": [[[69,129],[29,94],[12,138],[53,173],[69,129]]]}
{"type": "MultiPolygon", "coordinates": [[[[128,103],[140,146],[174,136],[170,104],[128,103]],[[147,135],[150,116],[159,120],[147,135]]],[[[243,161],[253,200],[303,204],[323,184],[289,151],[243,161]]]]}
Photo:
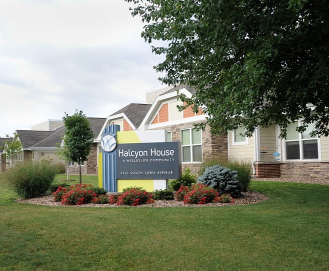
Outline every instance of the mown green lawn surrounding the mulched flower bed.
{"type": "MultiPolygon", "coordinates": [[[[87,181],[97,186],[97,176],[87,181]]],[[[0,187],[0,270],[329,266],[329,186],[252,181],[269,200],[202,208],[37,206],[16,203],[4,175],[0,187]]]]}

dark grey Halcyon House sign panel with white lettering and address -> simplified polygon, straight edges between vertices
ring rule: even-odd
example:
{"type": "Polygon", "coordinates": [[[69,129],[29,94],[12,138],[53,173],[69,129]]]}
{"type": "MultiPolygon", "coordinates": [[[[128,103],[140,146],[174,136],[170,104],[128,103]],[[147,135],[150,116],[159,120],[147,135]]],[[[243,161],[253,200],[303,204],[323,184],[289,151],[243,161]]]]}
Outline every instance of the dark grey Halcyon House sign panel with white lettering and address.
{"type": "Polygon", "coordinates": [[[180,143],[128,143],[116,148],[117,179],[178,179],[180,143]]]}

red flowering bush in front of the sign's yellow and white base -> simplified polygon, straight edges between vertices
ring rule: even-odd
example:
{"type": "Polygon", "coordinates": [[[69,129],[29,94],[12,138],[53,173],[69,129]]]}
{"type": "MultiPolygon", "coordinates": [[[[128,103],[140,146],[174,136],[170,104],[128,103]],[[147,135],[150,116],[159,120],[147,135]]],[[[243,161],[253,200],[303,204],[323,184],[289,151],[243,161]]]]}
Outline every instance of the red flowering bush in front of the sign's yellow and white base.
{"type": "Polygon", "coordinates": [[[152,203],[154,199],[152,199],[152,193],[146,192],[141,188],[127,188],[125,191],[117,196],[117,205],[131,205],[137,206],[145,203],[152,203]]]}

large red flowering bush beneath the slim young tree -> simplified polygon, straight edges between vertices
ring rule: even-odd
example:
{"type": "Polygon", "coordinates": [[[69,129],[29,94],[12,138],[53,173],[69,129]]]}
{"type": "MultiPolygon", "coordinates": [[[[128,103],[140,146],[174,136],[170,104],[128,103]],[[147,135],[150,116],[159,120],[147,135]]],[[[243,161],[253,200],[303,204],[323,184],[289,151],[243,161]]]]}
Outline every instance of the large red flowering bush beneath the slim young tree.
{"type": "Polygon", "coordinates": [[[92,190],[92,185],[74,184],[69,191],[62,196],[62,204],[81,205],[90,203],[97,194],[92,190]]]}

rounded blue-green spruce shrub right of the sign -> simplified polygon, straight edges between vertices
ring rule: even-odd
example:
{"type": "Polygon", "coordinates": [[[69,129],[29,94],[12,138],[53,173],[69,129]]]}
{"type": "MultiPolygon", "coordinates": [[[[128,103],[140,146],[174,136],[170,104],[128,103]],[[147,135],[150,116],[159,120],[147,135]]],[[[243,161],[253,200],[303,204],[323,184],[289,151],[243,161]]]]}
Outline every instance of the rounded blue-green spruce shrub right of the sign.
{"type": "Polygon", "coordinates": [[[215,165],[206,168],[197,182],[213,187],[219,194],[230,194],[233,198],[241,196],[237,172],[223,166],[215,165]]]}

